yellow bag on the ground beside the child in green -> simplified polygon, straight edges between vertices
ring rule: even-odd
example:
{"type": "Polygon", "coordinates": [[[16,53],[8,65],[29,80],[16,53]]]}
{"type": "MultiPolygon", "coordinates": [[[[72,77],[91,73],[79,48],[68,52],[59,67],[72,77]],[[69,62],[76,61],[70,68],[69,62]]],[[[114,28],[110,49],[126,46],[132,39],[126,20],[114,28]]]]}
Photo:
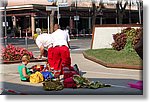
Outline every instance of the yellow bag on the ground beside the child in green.
{"type": "Polygon", "coordinates": [[[43,75],[40,72],[30,75],[30,83],[40,83],[44,80],[43,75]]]}

